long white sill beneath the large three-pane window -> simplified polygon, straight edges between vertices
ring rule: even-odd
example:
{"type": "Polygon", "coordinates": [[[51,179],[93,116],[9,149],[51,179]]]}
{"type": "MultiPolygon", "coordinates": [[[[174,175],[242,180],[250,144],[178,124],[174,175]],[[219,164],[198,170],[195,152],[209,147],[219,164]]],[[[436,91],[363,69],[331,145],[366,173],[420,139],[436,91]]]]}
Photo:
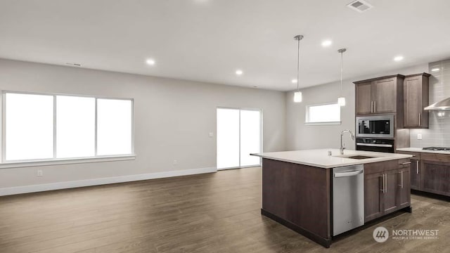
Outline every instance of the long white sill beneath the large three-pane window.
{"type": "Polygon", "coordinates": [[[91,162],[115,162],[135,160],[136,155],[117,155],[104,157],[82,157],[82,158],[67,158],[54,160],[34,160],[34,161],[18,161],[18,162],[1,162],[0,169],[20,168],[20,167],[35,167],[35,166],[49,166],[60,164],[79,164],[91,162]]]}

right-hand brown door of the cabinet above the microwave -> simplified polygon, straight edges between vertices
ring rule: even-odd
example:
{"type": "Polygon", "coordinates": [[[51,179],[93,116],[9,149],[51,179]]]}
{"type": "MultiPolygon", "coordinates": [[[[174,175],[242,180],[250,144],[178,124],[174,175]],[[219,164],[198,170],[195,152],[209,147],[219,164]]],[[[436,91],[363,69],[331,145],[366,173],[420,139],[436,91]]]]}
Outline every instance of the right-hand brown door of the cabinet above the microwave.
{"type": "Polygon", "coordinates": [[[397,111],[397,78],[377,80],[372,89],[375,113],[397,111]]]}

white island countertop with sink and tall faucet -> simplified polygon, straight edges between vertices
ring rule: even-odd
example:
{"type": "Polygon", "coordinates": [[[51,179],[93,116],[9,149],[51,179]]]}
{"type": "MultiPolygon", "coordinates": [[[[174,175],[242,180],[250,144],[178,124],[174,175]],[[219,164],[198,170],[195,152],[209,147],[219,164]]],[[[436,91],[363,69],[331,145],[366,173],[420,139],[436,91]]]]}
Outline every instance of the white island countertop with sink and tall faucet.
{"type": "Polygon", "coordinates": [[[344,157],[341,157],[338,149],[326,148],[318,150],[295,150],[295,151],[283,151],[283,152],[270,152],[251,154],[262,158],[271,160],[278,160],[283,162],[292,162],[296,164],[304,164],[324,169],[343,167],[355,164],[366,164],[371,162],[383,162],[388,160],[399,160],[404,158],[410,158],[412,155],[404,155],[398,153],[379,153],[369,151],[356,151],[356,150],[344,150],[344,157]],[[328,151],[331,151],[332,155],[328,155],[328,151]],[[365,155],[372,158],[367,159],[352,159],[345,156],[351,155],[365,155]]]}

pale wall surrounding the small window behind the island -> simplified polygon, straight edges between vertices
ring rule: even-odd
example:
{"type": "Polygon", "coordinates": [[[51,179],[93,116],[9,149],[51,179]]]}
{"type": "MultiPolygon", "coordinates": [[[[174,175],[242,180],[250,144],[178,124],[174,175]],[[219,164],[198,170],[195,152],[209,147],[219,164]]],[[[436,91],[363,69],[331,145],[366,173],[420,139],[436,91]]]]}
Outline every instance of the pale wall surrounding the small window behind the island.
{"type": "MultiPolygon", "coordinates": [[[[347,105],[342,107],[340,125],[307,126],[304,124],[306,105],[315,105],[321,103],[333,103],[338,101],[340,93],[340,82],[312,86],[302,89],[303,102],[294,103],[293,92],[286,93],[286,113],[287,113],[287,131],[286,131],[286,149],[303,150],[311,148],[339,148],[340,131],[349,129],[354,131],[355,117],[355,94],[353,82],[370,79],[373,77],[383,77],[390,74],[416,74],[428,72],[428,63],[407,67],[390,72],[371,74],[370,76],[345,79],[342,82],[342,94],[347,100],[347,105]]],[[[348,149],[354,149],[354,141],[349,134],[343,138],[348,149]]]]}

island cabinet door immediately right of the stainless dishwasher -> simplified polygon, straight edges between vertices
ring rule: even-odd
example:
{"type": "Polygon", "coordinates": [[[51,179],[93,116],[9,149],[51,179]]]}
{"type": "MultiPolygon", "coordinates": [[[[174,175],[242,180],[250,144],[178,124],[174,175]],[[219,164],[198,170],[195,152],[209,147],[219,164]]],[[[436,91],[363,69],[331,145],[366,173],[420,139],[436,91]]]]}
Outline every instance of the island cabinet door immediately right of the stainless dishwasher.
{"type": "Polygon", "coordinates": [[[383,215],[383,173],[364,174],[364,222],[383,215]]]}

